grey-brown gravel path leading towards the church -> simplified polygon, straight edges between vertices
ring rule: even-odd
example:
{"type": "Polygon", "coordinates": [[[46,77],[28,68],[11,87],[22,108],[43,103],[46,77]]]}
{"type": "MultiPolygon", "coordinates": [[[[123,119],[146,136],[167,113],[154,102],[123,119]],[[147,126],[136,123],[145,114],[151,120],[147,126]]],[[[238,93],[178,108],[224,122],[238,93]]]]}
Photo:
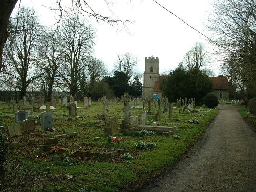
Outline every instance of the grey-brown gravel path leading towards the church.
{"type": "Polygon", "coordinates": [[[218,108],[199,143],[141,191],[256,191],[255,129],[242,119],[238,107],[218,108]]]}

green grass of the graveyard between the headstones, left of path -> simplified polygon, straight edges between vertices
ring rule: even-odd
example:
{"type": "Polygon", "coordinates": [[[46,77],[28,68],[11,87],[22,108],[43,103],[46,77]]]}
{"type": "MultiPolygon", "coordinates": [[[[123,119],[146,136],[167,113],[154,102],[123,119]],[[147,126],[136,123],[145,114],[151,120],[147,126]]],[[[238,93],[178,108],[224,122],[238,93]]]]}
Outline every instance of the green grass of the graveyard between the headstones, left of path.
{"type": "MultiPolygon", "coordinates": [[[[207,109],[210,112],[182,112],[174,106],[173,117],[168,117],[168,112],[160,114],[158,126],[179,126],[179,131],[172,135],[178,135],[175,139],[172,135],[160,136],[124,136],[120,144],[108,143],[104,136],[104,121],[98,120],[102,114],[102,103],[93,102],[91,107],[83,109],[83,103],[78,103],[77,117],[72,121],[53,120],[53,132],[41,131],[36,125],[34,131],[29,133],[44,133],[49,135],[23,134],[9,138],[8,144],[18,142],[18,148],[8,148],[7,161],[5,163],[5,176],[0,180],[1,191],[134,191],[151,181],[153,177],[159,177],[185,154],[191,146],[195,145],[207,126],[218,113],[218,109],[207,109]],[[200,114],[200,115],[199,115],[200,114]],[[199,124],[190,123],[196,118],[199,124]],[[53,134],[72,134],[72,138],[59,138],[58,144],[51,147],[68,148],[70,152],[84,150],[90,152],[112,152],[123,150],[133,158],[124,160],[120,155],[108,159],[102,157],[68,156],[68,161],[53,161],[50,151],[41,151],[40,145],[44,139],[51,138],[53,134]],[[34,138],[35,143],[30,144],[34,138]],[[138,141],[154,142],[152,149],[138,150],[135,143],[138,141]]],[[[138,106],[141,106],[138,105],[138,106]]],[[[2,126],[15,125],[13,109],[8,110],[7,104],[0,105],[0,118],[2,126]]],[[[121,123],[123,104],[108,104],[106,107],[108,117],[113,117],[121,123]]],[[[197,108],[198,109],[198,108],[197,108]]],[[[140,116],[141,108],[130,109],[132,116],[140,116]]],[[[145,109],[146,110],[146,109],[145,109]]],[[[152,108],[156,113],[157,108],[152,108]]],[[[32,111],[32,109],[31,109],[32,111]]],[[[52,110],[53,117],[68,118],[67,108],[57,105],[52,110]]],[[[32,112],[29,118],[36,120],[38,112],[32,112]]],[[[146,125],[151,125],[154,115],[147,115],[146,125]]],[[[6,129],[2,131],[7,135],[6,129]]]]}

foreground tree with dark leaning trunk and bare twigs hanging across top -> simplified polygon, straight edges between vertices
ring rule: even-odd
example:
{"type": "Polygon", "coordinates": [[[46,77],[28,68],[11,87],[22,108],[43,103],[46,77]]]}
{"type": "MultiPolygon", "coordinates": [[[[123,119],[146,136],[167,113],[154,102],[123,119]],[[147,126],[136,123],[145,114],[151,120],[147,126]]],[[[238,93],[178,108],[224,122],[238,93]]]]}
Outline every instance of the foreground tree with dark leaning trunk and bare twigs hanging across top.
{"type": "MultiPolygon", "coordinates": [[[[0,6],[0,72],[2,71],[3,68],[3,63],[2,63],[2,54],[3,54],[3,48],[4,44],[8,38],[8,25],[9,25],[9,19],[11,16],[11,13],[16,5],[18,0],[1,0],[1,6],[0,6]]],[[[108,1],[105,1],[106,5],[113,4],[108,1]]],[[[100,6],[99,6],[100,7],[100,6]]],[[[75,15],[79,13],[83,17],[88,17],[88,18],[95,18],[98,22],[103,21],[107,22],[110,25],[114,24],[119,24],[121,23],[122,26],[126,27],[126,22],[129,22],[127,20],[121,20],[119,18],[114,18],[114,14],[112,13],[112,16],[105,16],[103,14],[100,14],[98,10],[93,9],[89,3],[88,0],[72,0],[71,4],[63,5],[63,1],[61,0],[56,0],[56,6],[51,7],[50,9],[59,11],[59,20],[63,17],[63,15],[68,15],[69,17],[72,17],[70,15],[75,15]]]]}

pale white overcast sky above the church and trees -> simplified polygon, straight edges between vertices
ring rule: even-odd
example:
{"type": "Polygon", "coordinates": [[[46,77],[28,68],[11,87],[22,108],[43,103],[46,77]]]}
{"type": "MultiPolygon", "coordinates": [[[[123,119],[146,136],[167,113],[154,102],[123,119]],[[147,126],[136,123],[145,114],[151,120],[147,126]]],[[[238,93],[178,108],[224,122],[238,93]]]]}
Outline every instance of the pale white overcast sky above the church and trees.
{"type": "MultiPolygon", "coordinates": [[[[46,24],[55,22],[54,16],[57,17],[58,14],[45,6],[55,6],[53,2],[56,1],[21,1],[21,5],[33,7],[42,22],[46,24]]],[[[64,4],[67,1],[61,2],[64,4]]],[[[88,0],[87,2],[100,14],[111,13],[104,0],[88,0]]],[[[134,21],[127,23],[129,31],[122,29],[117,32],[122,26],[117,28],[117,26],[111,26],[104,22],[97,23],[93,19],[90,21],[90,24],[96,29],[95,56],[108,66],[109,71],[111,71],[117,55],[126,52],[132,53],[139,59],[138,70],[140,73],[144,72],[145,57],[151,57],[151,55],[159,58],[161,73],[163,70],[169,71],[177,68],[185,53],[196,42],[202,42],[206,50],[212,52],[211,45],[203,35],[173,15],[175,14],[190,26],[210,37],[204,24],[207,24],[212,9],[212,0],[156,0],[173,14],[153,0],[131,0],[130,3],[127,3],[129,2],[127,0],[116,0],[116,2],[113,6],[109,5],[115,14],[114,17],[134,21]]],[[[213,57],[211,66],[217,76],[220,73],[217,68],[218,62],[214,62],[213,57]]]]}

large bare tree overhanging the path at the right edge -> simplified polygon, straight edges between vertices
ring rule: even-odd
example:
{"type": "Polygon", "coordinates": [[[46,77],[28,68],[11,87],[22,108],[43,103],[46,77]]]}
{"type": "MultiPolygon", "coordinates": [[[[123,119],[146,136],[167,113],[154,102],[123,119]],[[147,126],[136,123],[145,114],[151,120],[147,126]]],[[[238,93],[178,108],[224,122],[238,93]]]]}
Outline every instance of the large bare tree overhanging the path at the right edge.
{"type": "Polygon", "coordinates": [[[242,92],[253,93],[256,89],[250,84],[256,84],[256,2],[218,0],[214,6],[209,29],[214,32],[211,42],[217,46],[216,53],[224,60],[223,73],[242,92]]]}

